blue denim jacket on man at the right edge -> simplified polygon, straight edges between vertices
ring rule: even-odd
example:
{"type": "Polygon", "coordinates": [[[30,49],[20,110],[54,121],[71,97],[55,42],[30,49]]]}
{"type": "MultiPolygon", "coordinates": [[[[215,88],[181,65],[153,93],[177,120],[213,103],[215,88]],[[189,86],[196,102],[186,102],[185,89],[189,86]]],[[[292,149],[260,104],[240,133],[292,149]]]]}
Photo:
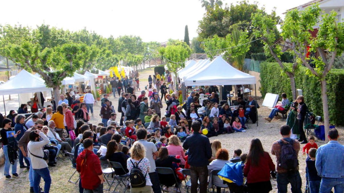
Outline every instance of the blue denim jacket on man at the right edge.
{"type": "Polygon", "coordinates": [[[344,146],[329,141],[316,150],[315,167],[318,175],[325,178],[344,178],[344,146]]]}

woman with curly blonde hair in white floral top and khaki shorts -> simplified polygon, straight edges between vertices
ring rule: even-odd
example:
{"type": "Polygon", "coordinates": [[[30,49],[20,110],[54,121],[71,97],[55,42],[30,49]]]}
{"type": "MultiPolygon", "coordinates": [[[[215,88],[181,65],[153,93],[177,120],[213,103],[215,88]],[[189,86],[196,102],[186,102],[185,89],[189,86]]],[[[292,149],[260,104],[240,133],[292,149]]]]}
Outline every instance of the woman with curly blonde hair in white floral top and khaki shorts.
{"type": "Polygon", "coordinates": [[[146,176],[146,186],[142,188],[131,188],[132,192],[151,192],[152,182],[150,181],[148,175],[151,168],[148,158],[145,157],[146,150],[144,149],[144,146],[138,141],[136,141],[130,148],[130,155],[131,158],[127,160],[127,167],[129,172],[133,169],[133,165],[135,164],[141,170],[142,174],[146,176]]]}

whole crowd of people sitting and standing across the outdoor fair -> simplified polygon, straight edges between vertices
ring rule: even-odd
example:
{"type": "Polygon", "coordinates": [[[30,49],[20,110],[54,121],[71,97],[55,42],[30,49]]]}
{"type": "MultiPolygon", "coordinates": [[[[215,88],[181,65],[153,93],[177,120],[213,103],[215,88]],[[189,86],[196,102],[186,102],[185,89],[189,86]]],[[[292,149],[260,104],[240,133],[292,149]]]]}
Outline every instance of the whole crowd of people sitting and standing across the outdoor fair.
{"type": "MultiPolygon", "coordinates": [[[[192,193],[205,193],[207,187],[213,185],[219,193],[219,184],[227,185],[235,193],[270,192],[271,177],[276,177],[280,193],[287,192],[289,183],[293,193],[300,193],[300,141],[301,144],[306,144],[303,154],[308,156],[307,168],[302,168],[307,171],[306,191],[329,192],[334,187],[335,192],[343,192],[344,146],[337,141],[339,135],[336,129],[330,129],[327,135],[330,142],[318,148],[314,137],[309,137],[308,142],[302,135],[300,140],[294,140],[291,137],[291,127],[281,126],[281,139],[276,140],[271,147],[271,154],[276,156],[276,162],[263,149],[258,138],[251,140],[247,153],[236,149],[233,156],[229,156],[228,150],[221,147],[221,141],[214,140],[210,143],[208,138],[245,132],[247,119],[251,118],[253,122],[251,116],[259,108],[257,101],[251,96],[247,102],[239,98],[239,106],[232,112],[228,103],[219,107],[216,87],[207,87],[207,91],[212,89],[214,92],[204,100],[205,108],[202,115],[199,115],[197,109],[201,107],[200,94],[206,94],[203,89],[198,93],[190,93],[183,111],[178,94],[174,90],[171,73],[168,71],[165,75],[156,73],[153,78],[148,78],[147,96],[146,90],[139,89],[139,83],[136,81],[138,79],[135,78],[138,74],[131,72],[129,77],[129,80],[132,79],[131,83],[127,77],[124,77],[123,81],[118,78],[111,80],[114,97],[116,91],[120,94],[117,112],[115,104],[104,94],[99,112],[101,121],[97,125],[89,123],[90,117],[95,116],[93,104],[96,102],[91,91],[87,91],[83,102],[80,102],[80,97],[73,91],[61,94],[56,108],[54,104],[44,107],[44,101],[40,102],[35,97],[28,105],[31,106],[31,111],[35,108],[37,111],[26,122],[25,116],[19,112],[27,112],[26,105],[21,105],[18,114],[11,111],[0,130],[6,157],[6,179],[19,178],[19,159],[20,168],[29,170],[30,192],[49,192],[49,167],[56,166],[59,154],[66,156],[68,152],[73,154],[73,165],[80,173],[80,193],[103,192],[101,160],[121,164],[123,170],[115,170],[115,174],[128,177],[126,182],[128,185],[130,182],[131,192],[153,190],[154,193],[160,193],[161,185],[163,191],[179,192],[180,184],[185,178],[183,170],[190,169],[192,193]],[[141,93],[138,97],[136,91],[141,93]],[[165,113],[161,110],[163,99],[167,106],[165,113]],[[119,115],[118,123],[116,119],[119,115]],[[17,147],[14,142],[18,142],[17,147]],[[9,171],[11,164],[12,175],[9,171]],[[158,174],[156,167],[171,168],[174,174],[158,174]],[[227,170],[225,178],[232,180],[212,177],[213,171],[226,167],[232,168],[227,170]],[[133,178],[134,175],[141,177],[141,185],[133,178]],[[39,186],[41,178],[45,182],[44,190],[39,186]],[[176,180],[172,180],[174,178],[176,180]],[[234,180],[237,178],[239,181],[234,180]],[[243,183],[244,179],[246,183],[243,183]]],[[[286,98],[282,96],[283,99],[286,98]]],[[[296,112],[302,114],[303,97],[299,97],[296,102],[299,104],[299,110],[296,112]]],[[[296,109],[295,106],[293,108],[296,109]]],[[[276,112],[273,110],[269,118],[272,119],[276,112]]],[[[301,116],[298,119],[302,121],[301,116]]]]}

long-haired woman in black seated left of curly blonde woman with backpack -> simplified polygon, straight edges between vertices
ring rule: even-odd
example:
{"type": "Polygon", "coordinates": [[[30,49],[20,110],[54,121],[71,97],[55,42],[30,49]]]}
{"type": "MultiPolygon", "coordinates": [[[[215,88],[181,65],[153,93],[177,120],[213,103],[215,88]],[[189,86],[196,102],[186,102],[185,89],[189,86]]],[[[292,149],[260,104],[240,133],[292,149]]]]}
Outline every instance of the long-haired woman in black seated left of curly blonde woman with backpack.
{"type": "MultiPolygon", "coordinates": [[[[124,168],[125,172],[128,173],[129,170],[127,168],[127,158],[123,154],[123,152],[118,152],[118,144],[115,140],[110,140],[109,143],[107,144],[107,149],[106,149],[106,155],[101,156],[100,160],[109,160],[109,161],[115,161],[119,162],[122,167],[124,168]]],[[[126,173],[123,172],[123,170],[116,170],[116,175],[125,175],[126,173]]]]}

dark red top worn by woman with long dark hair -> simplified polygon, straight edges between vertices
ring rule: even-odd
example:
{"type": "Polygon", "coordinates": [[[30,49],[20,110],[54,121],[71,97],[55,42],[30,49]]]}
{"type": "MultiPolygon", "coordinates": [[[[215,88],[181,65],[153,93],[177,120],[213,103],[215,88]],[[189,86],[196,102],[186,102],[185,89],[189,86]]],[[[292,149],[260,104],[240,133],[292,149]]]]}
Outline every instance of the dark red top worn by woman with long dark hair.
{"type": "Polygon", "coordinates": [[[260,157],[258,166],[253,166],[251,160],[247,160],[244,167],[247,183],[269,181],[270,171],[275,171],[275,164],[273,164],[268,152],[264,152],[264,155],[260,157]]]}

